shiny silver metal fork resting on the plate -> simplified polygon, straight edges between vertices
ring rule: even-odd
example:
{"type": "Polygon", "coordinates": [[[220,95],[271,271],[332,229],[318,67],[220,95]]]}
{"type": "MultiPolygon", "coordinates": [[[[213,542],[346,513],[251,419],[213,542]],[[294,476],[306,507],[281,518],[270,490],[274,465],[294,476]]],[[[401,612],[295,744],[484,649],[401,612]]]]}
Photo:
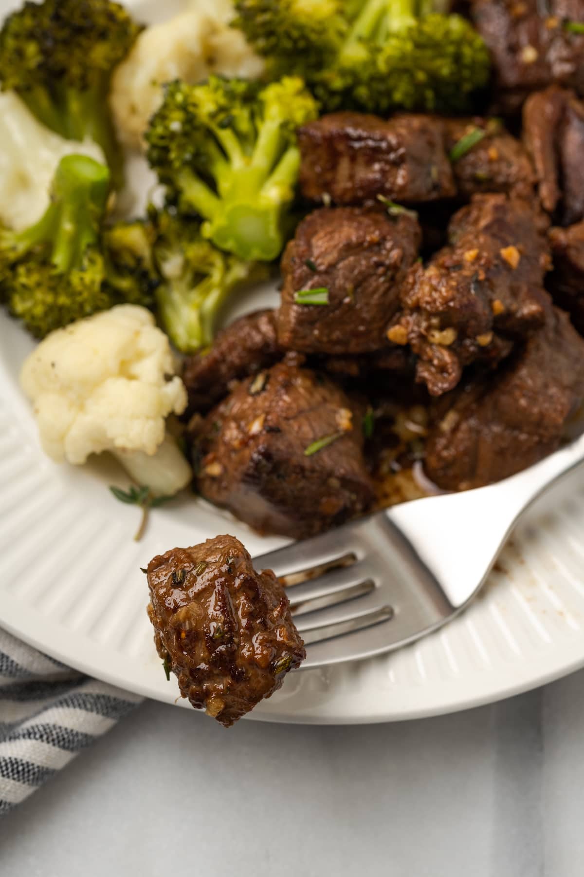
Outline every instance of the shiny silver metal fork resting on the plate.
{"type": "Polygon", "coordinates": [[[478,593],[517,518],[582,461],[584,436],[489,487],[398,505],[256,558],[287,586],[307,640],[302,668],[391,652],[446,624],[478,593]]]}

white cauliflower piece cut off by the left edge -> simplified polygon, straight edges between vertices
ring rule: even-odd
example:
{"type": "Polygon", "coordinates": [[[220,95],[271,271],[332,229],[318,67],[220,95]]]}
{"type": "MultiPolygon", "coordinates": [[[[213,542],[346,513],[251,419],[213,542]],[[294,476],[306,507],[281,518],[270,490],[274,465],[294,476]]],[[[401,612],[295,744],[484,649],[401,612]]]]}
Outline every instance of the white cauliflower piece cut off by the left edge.
{"type": "Polygon", "coordinates": [[[41,125],[12,91],[0,94],[0,222],[21,231],[49,205],[49,191],[64,155],[104,161],[96,143],[65,140],[41,125]]]}

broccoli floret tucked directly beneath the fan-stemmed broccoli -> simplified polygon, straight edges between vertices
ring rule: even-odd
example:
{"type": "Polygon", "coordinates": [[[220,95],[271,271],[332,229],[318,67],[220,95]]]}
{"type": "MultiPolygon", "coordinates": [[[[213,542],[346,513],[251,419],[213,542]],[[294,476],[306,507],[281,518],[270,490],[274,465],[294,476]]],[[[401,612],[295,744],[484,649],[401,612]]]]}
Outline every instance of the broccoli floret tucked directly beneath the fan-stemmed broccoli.
{"type": "Polygon", "coordinates": [[[158,319],[179,351],[194,353],[213,341],[232,292],[264,279],[267,269],[217,249],[193,219],[163,210],[155,222],[154,260],[163,279],[156,290],[158,319]]]}

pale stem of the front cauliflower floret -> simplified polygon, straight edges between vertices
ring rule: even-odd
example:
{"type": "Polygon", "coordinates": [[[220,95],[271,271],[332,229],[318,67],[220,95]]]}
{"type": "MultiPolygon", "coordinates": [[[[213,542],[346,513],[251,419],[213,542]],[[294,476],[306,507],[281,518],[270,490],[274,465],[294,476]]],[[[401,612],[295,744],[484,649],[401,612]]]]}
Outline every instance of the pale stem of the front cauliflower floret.
{"type": "Polygon", "coordinates": [[[156,453],[112,450],[133,481],[150,488],[153,496],[174,496],[193,478],[191,467],[179,450],[176,439],[166,433],[156,453]]]}

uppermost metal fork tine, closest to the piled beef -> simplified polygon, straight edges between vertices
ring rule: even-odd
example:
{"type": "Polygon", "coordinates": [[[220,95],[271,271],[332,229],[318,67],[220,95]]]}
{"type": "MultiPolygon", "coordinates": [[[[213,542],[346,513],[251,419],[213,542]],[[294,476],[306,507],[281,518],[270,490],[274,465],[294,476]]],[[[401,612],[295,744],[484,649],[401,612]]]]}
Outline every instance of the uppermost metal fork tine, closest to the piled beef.
{"type": "Polygon", "coordinates": [[[351,531],[352,525],[345,524],[336,531],[313,536],[302,542],[292,542],[292,545],[286,545],[285,548],[255,557],[254,567],[258,570],[272,569],[279,577],[334,563],[350,552],[357,555],[350,545],[351,531]]]}

